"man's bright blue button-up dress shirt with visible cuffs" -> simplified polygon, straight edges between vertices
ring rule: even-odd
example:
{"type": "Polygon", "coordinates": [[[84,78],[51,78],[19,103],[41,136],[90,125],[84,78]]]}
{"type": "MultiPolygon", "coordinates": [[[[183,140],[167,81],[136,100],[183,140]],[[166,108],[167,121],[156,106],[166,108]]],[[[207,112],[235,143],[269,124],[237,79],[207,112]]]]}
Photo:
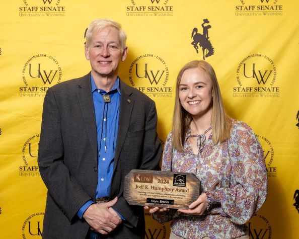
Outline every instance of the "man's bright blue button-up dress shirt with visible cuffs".
{"type": "MultiPolygon", "coordinates": [[[[93,76],[91,75],[91,91],[96,114],[97,142],[98,142],[98,184],[96,198],[109,197],[111,180],[113,174],[114,155],[118,131],[120,86],[117,77],[114,86],[109,92],[97,89],[93,76]],[[108,94],[111,102],[105,103],[103,95],[108,94]]],[[[92,200],[86,202],[78,211],[82,218],[85,210],[93,204],[92,200]]],[[[119,215],[124,219],[121,215],[119,215]]]]}

